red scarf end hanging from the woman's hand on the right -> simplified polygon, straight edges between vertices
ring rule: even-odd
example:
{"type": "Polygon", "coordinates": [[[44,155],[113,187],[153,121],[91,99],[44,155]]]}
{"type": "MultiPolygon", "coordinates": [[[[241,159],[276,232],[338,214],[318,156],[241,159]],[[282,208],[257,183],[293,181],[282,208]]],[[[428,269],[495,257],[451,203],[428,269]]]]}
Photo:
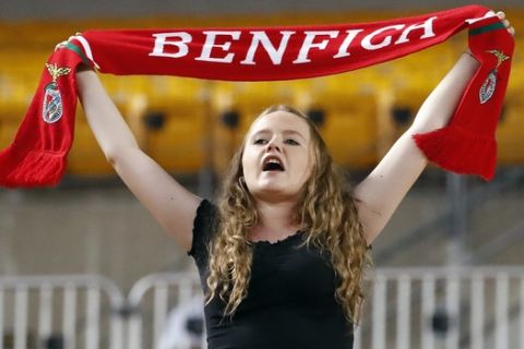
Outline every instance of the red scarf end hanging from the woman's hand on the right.
{"type": "MultiPolygon", "coordinates": [[[[474,23],[471,31],[497,23],[487,19],[474,23]]],[[[478,35],[469,35],[469,48],[480,67],[467,85],[450,123],[442,129],[414,136],[426,157],[444,169],[457,173],[476,173],[491,180],[497,165],[497,140],[495,133],[502,111],[505,89],[511,70],[514,40],[505,28],[478,35]],[[501,50],[509,59],[498,65],[490,52],[501,50]],[[493,96],[479,103],[483,84],[497,68],[497,84],[493,96]]]]}

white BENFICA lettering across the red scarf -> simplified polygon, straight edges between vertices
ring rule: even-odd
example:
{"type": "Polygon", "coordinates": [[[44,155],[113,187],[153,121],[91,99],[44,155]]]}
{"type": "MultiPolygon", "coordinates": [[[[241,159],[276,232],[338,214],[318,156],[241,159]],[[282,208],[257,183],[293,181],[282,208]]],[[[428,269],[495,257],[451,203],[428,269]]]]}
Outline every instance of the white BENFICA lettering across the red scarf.
{"type": "MultiPolygon", "coordinates": [[[[433,21],[437,16],[429,17],[424,23],[413,24],[406,27],[405,24],[395,24],[374,29],[371,33],[362,33],[364,29],[347,29],[341,34],[341,31],[303,31],[300,34],[303,35],[303,40],[299,45],[300,49],[294,64],[308,63],[309,53],[312,49],[325,50],[330,40],[337,39],[340,35],[344,36],[344,39],[338,38],[340,46],[336,49],[330,47],[330,50],[337,52],[333,58],[344,58],[350,56],[349,47],[355,38],[361,37],[360,46],[365,50],[378,50],[390,45],[400,45],[409,41],[409,34],[416,32],[420,35],[419,39],[430,38],[436,36],[433,32],[433,21]],[[386,35],[389,34],[389,35],[386,35]],[[393,41],[393,36],[395,40],[393,41]],[[377,39],[380,37],[379,39],[377,39]],[[377,43],[377,40],[380,40],[377,43]],[[393,41],[393,43],[392,43],[393,41]]],[[[193,55],[200,53],[194,59],[198,61],[217,62],[217,63],[231,63],[235,53],[231,52],[231,45],[236,40],[240,39],[241,35],[250,35],[251,44],[242,55],[243,60],[240,64],[257,64],[254,57],[257,51],[262,48],[269,55],[273,64],[278,65],[282,63],[282,59],[288,46],[289,39],[297,34],[294,31],[281,31],[281,40],[277,45],[274,45],[267,34],[264,31],[203,31],[205,36],[203,45],[193,45],[191,34],[187,32],[174,32],[174,33],[157,33],[153,34],[155,38],[155,46],[150,56],[155,57],[168,57],[168,58],[182,58],[188,56],[189,49],[196,49],[200,52],[192,52],[193,55]]],[[[300,35],[298,34],[298,35],[300,35]]],[[[415,34],[414,34],[415,35],[415,34]]]]}

